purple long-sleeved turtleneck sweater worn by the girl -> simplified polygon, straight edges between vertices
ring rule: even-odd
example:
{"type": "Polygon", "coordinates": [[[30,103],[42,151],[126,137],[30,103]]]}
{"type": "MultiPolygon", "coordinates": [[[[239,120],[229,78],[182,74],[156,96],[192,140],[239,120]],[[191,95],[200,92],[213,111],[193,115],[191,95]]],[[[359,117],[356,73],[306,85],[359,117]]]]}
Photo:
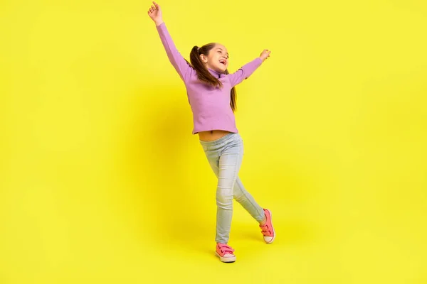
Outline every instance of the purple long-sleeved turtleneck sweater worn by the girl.
{"type": "Polygon", "coordinates": [[[156,28],[169,61],[184,81],[191,111],[193,111],[193,134],[216,129],[238,133],[233,110],[230,106],[231,88],[248,78],[263,60],[255,58],[233,74],[228,75],[208,68],[209,72],[223,84],[222,88],[211,87],[197,78],[196,70],[176,50],[165,23],[156,28]]]}

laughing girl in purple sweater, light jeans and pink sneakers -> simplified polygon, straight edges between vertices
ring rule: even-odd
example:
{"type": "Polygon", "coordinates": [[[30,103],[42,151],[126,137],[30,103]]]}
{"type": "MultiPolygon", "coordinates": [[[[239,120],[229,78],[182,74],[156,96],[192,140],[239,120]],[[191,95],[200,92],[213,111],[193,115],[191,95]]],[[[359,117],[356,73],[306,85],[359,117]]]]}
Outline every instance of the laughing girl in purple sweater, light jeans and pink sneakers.
{"type": "Polygon", "coordinates": [[[154,1],[153,4],[148,15],[156,24],[169,61],[184,81],[193,111],[193,134],[199,134],[201,147],[218,178],[216,256],[223,262],[234,262],[234,250],[228,246],[233,198],[260,223],[265,243],[271,244],[275,238],[270,210],[260,207],[238,178],[243,158],[243,140],[236,129],[234,119],[234,87],[248,78],[270,56],[270,51],[263,50],[258,58],[243,65],[233,74],[229,74],[227,70],[227,49],[219,43],[194,46],[190,53],[190,63],[176,50],[162,19],[159,4],[154,1]]]}

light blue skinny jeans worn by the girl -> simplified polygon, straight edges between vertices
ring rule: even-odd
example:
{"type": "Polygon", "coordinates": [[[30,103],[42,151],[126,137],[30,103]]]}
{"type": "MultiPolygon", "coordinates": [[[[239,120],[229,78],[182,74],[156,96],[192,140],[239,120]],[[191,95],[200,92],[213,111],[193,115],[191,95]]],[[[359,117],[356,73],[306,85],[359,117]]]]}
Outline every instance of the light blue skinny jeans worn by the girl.
{"type": "Polygon", "coordinates": [[[263,221],[264,211],[238,178],[238,170],[243,160],[243,140],[240,134],[228,133],[214,141],[199,141],[218,178],[215,241],[227,244],[233,216],[233,198],[258,222],[263,221]]]}

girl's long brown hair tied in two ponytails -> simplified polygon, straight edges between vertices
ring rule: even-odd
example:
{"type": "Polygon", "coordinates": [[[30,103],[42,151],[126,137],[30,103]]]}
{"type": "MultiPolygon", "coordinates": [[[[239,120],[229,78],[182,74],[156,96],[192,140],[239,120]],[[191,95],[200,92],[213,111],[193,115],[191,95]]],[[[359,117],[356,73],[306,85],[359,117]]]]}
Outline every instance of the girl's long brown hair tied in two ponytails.
{"type": "MultiPolygon", "coordinates": [[[[195,45],[191,49],[190,53],[190,62],[194,70],[196,70],[197,77],[201,82],[204,82],[206,84],[209,84],[213,87],[223,87],[223,84],[221,83],[218,78],[211,75],[209,70],[205,67],[204,63],[201,61],[200,55],[203,54],[205,56],[209,55],[209,51],[214,48],[216,43],[208,43],[206,45],[201,46],[200,48],[195,45]]],[[[188,61],[187,61],[188,62],[188,61]]],[[[223,74],[227,75],[228,70],[226,70],[223,74]]],[[[237,105],[236,105],[236,88],[231,88],[230,92],[230,107],[233,110],[233,112],[236,111],[237,105]]]]}

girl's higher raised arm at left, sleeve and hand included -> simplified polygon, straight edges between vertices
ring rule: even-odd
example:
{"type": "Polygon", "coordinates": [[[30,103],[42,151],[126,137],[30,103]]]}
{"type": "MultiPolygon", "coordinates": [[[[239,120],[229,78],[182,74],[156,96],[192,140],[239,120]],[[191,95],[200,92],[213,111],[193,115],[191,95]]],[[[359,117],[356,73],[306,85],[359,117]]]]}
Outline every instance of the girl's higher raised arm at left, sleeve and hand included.
{"type": "Polygon", "coordinates": [[[156,23],[157,32],[160,35],[160,40],[166,50],[167,57],[169,61],[174,66],[176,72],[178,72],[179,77],[186,82],[186,80],[191,77],[191,72],[195,72],[189,63],[182,57],[181,53],[176,49],[174,41],[172,40],[169,31],[167,31],[166,24],[162,18],[162,10],[160,9],[159,4],[153,1],[154,6],[151,6],[148,15],[154,23],[156,23]]]}

